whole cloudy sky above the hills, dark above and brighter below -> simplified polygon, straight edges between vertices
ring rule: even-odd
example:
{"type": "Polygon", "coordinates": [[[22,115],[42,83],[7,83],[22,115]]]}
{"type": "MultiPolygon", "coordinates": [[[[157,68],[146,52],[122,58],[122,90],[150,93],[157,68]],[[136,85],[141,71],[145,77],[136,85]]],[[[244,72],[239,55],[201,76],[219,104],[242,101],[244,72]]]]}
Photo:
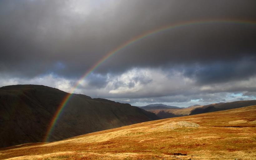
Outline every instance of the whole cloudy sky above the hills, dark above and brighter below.
{"type": "Polygon", "coordinates": [[[255,6],[251,0],[1,0],[0,87],[45,85],[133,106],[256,100],[255,6]]]}

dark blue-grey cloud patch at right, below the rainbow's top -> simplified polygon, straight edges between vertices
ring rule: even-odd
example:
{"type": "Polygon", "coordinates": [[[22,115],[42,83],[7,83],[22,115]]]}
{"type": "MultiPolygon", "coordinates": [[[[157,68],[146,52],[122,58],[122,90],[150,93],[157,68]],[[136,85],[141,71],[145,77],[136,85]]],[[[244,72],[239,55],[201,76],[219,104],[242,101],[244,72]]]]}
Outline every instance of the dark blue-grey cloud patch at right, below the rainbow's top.
{"type": "Polygon", "coordinates": [[[256,75],[256,57],[213,62],[185,69],[186,77],[196,79],[199,85],[248,80],[256,75]]]}

